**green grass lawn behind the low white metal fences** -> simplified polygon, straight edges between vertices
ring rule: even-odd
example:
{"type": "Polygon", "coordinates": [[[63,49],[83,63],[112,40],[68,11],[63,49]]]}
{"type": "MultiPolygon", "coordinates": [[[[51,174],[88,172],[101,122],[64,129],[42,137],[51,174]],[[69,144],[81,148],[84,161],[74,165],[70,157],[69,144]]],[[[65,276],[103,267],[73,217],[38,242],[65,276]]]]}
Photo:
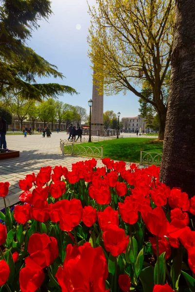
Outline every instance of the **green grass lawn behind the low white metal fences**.
{"type": "Polygon", "coordinates": [[[120,138],[109,141],[79,144],[81,146],[103,146],[103,157],[110,157],[114,160],[127,162],[140,161],[140,149],[147,152],[162,153],[163,143],[158,140],[148,138],[120,138]]]}

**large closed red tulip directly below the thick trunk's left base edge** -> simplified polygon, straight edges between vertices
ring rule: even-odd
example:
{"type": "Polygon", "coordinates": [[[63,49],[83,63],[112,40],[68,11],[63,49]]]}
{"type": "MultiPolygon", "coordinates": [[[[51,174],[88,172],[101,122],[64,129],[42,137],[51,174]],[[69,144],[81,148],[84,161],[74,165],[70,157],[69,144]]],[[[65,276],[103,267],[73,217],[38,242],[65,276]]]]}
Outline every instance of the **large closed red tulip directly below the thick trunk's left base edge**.
{"type": "Polygon", "coordinates": [[[163,237],[166,235],[169,227],[169,221],[166,219],[162,208],[157,207],[153,210],[149,208],[148,210],[143,210],[141,215],[146,227],[152,234],[158,237],[163,237]]]}

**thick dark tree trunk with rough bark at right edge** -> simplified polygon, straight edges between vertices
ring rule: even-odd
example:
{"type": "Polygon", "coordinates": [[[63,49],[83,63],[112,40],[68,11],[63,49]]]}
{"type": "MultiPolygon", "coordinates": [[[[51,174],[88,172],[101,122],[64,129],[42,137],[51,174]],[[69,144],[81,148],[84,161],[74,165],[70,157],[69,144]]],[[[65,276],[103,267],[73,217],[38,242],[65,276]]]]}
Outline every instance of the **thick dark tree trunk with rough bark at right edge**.
{"type": "Polygon", "coordinates": [[[195,195],[195,0],[176,0],[170,99],[160,181],[195,195]]]}

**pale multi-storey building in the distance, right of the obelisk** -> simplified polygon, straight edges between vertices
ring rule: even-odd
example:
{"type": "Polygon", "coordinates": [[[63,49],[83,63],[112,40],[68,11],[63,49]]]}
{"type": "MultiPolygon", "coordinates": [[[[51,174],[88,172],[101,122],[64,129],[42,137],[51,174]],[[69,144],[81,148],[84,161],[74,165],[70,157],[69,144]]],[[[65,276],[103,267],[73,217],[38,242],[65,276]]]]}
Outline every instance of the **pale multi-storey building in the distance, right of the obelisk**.
{"type": "Polygon", "coordinates": [[[136,117],[122,118],[123,124],[123,132],[135,133],[137,130],[139,131],[141,128],[141,132],[146,129],[146,123],[144,122],[144,118],[141,118],[140,115],[136,117]]]}

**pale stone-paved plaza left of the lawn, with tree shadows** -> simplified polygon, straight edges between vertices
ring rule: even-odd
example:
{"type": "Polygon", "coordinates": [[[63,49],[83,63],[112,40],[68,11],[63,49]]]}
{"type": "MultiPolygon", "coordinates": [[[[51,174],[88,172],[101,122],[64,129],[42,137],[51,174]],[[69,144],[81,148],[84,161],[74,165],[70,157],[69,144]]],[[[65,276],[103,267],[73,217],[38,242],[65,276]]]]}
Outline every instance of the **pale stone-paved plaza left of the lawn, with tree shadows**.
{"type": "MultiPolygon", "coordinates": [[[[66,166],[69,170],[72,163],[87,160],[87,157],[62,155],[59,148],[59,139],[67,139],[66,132],[59,134],[54,132],[51,138],[43,138],[42,135],[6,135],[7,147],[12,150],[19,150],[20,157],[0,160],[0,182],[9,182],[9,194],[6,197],[8,205],[18,201],[21,193],[19,180],[24,179],[29,173],[37,174],[41,166],[55,165],[66,166]]],[[[103,166],[98,160],[99,167],[103,166]]],[[[0,198],[0,209],[4,206],[0,198]]]]}

